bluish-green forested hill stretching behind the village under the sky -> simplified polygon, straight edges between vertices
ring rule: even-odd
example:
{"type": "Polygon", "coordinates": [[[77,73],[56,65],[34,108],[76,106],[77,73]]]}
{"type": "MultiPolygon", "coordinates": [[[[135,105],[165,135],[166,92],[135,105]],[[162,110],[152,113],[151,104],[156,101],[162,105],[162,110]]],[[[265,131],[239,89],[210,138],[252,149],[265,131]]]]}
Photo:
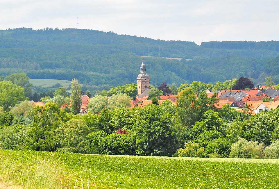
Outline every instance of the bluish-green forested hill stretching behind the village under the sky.
{"type": "MultiPolygon", "coordinates": [[[[77,77],[88,88],[135,82],[145,58],[152,85],[206,83],[247,76],[279,82],[278,42],[164,41],[84,29],[0,30],[0,75],[26,72],[31,79],[77,77]],[[182,58],[167,60],[161,57],[182,58]],[[187,59],[192,59],[188,61],[187,59]]],[[[85,85],[84,85],[85,86],[85,85]]]]}

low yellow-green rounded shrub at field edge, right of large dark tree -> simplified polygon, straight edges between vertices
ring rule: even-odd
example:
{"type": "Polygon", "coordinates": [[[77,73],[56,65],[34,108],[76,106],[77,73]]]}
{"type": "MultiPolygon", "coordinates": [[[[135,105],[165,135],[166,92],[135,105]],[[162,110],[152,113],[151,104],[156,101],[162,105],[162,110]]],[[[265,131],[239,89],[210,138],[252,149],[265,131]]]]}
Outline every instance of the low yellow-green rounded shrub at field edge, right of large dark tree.
{"type": "Polygon", "coordinates": [[[204,148],[196,142],[185,143],[183,149],[178,149],[178,157],[204,157],[204,148]]]}

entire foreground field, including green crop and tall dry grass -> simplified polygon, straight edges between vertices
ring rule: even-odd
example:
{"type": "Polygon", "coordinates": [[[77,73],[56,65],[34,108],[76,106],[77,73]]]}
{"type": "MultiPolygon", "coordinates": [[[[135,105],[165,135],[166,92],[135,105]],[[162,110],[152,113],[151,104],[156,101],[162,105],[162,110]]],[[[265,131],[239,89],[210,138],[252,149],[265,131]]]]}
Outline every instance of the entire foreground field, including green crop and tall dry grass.
{"type": "Polygon", "coordinates": [[[0,150],[0,188],[279,188],[278,172],[267,159],[0,150]]]}

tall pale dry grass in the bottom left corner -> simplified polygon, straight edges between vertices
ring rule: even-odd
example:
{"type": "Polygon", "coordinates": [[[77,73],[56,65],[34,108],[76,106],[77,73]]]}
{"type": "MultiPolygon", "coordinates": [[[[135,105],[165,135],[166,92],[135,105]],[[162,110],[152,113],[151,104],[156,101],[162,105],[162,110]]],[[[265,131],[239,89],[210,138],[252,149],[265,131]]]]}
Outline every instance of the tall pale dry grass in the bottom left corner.
{"type": "Polygon", "coordinates": [[[23,164],[9,156],[0,156],[0,184],[7,188],[65,188],[59,181],[61,170],[56,164],[38,157],[30,164],[23,164]]]}

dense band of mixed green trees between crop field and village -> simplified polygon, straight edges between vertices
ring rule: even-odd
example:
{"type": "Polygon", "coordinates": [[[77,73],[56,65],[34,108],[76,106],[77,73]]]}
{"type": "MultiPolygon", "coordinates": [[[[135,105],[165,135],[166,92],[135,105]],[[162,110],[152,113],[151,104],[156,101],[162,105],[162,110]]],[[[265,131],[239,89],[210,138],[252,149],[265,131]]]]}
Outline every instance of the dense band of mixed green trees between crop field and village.
{"type": "Polygon", "coordinates": [[[91,105],[99,109],[87,115],[67,113],[54,99],[44,107],[22,101],[2,109],[0,147],[89,154],[279,158],[278,108],[253,116],[249,108],[241,112],[225,105],[217,110],[217,98],[200,92],[196,99],[190,87],[180,93],[176,106],[166,100],[161,105],[130,109],[127,104],[110,101],[100,109],[103,101],[96,100],[91,105]]]}

